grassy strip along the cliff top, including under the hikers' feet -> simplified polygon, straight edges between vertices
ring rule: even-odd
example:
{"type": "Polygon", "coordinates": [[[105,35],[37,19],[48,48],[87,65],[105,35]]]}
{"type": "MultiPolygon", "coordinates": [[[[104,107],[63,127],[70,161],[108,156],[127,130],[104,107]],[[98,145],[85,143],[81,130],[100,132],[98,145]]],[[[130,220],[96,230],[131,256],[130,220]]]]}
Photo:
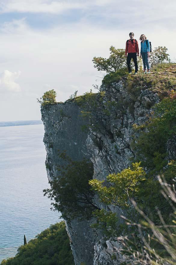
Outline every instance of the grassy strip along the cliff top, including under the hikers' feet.
{"type": "MultiPolygon", "coordinates": [[[[120,80],[124,83],[127,91],[130,94],[134,94],[136,100],[140,91],[144,89],[157,93],[160,99],[163,99],[168,96],[170,91],[175,91],[176,89],[176,63],[159,63],[154,65],[150,74],[138,71],[137,75],[129,75],[127,69],[120,69],[115,73],[107,74],[102,80],[102,84],[110,87],[112,83],[119,82],[120,80]]],[[[79,106],[83,106],[88,100],[95,103],[98,95],[102,97],[101,93],[104,92],[93,93],[90,91],[68,101],[73,101],[79,106]]]]}

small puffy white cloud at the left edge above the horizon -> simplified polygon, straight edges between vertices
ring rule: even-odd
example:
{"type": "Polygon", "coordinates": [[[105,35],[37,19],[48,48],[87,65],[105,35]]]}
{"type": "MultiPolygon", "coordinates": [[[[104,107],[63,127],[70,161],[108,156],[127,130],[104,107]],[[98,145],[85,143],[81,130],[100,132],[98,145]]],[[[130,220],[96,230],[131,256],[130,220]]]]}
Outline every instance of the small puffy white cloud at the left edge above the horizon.
{"type": "Polygon", "coordinates": [[[12,73],[8,70],[4,70],[4,72],[0,75],[0,92],[20,92],[20,85],[15,82],[19,78],[20,74],[20,71],[12,73]]]}

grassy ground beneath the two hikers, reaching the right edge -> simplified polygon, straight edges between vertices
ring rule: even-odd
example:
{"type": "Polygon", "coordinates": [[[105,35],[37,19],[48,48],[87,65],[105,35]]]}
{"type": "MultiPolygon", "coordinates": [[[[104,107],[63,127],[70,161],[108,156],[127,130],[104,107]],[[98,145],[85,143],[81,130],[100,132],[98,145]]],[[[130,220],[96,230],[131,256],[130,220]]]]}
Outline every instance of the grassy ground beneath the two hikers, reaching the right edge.
{"type": "Polygon", "coordinates": [[[170,91],[176,89],[176,64],[160,63],[153,66],[150,74],[139,71],[137,75],[128,75],[125,86],[131,93],[138,91],[140,94],[141,90],[149,89],[163,99],[170,91]]]}

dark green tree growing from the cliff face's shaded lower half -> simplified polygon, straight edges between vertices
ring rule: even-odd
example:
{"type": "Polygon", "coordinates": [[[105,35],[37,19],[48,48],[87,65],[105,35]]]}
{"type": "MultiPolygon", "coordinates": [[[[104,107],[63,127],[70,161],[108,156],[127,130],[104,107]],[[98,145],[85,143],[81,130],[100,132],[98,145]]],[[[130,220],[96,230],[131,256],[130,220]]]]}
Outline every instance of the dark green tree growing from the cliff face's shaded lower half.
{"type": "Polygon", "coordinates": [[[51,188],[44,190],[44,196],[54,202],[54,211],[63,217],[90,218],[97,205],[93,202],[94,193],[88,181],[94,174],[93,165],[88,160],[72,161],[65,153],[60,155],[67,164],[60,168],[60,174],[49,183],[51,188]]]}

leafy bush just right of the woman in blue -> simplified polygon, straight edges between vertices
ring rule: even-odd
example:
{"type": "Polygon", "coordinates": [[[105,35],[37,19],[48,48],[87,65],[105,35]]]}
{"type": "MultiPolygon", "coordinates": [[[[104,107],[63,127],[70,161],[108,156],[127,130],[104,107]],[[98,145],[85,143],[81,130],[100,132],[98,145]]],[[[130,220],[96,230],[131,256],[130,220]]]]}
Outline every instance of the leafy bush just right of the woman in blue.
{"type": "Polygon", "coordinates": [[[155,47],[150,54],[150,64],[164,63],[165,61],[170,62],[169,54],[166,53],[168,49],[164,46],[155,47]]]}

